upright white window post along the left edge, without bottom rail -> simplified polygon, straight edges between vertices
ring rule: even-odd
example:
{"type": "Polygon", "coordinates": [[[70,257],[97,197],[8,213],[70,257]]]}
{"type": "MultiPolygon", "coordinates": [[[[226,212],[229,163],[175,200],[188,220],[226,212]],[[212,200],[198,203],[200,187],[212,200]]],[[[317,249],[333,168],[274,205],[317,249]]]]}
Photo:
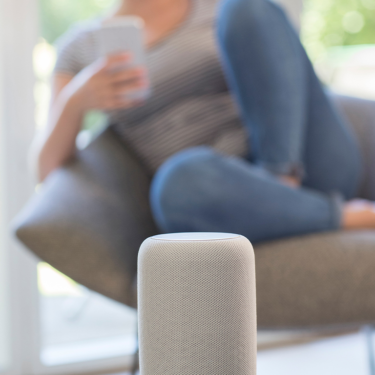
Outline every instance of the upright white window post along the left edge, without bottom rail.
{"type": "Polygon", "coordinates": [[[0,367],[31,373],[35,304],[33,261],[12,240],[9,223],[30,196],[26,155],[33,129],[33,1],[0,0],[0,367]],[[30,266],[30,267],[29,267],[30,266]]]}

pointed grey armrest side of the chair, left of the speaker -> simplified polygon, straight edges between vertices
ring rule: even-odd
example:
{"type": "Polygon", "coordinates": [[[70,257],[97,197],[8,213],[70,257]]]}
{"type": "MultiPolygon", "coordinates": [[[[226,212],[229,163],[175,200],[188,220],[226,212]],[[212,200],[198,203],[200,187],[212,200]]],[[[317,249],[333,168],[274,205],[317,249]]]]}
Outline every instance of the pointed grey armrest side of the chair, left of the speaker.
{"type": "Polygon", "coordinates": [[[15,221],[17,237],[86,287],[136,306],[142,241],[157,233],[150,178],[111,129],[52,172],[15,221]]]}

